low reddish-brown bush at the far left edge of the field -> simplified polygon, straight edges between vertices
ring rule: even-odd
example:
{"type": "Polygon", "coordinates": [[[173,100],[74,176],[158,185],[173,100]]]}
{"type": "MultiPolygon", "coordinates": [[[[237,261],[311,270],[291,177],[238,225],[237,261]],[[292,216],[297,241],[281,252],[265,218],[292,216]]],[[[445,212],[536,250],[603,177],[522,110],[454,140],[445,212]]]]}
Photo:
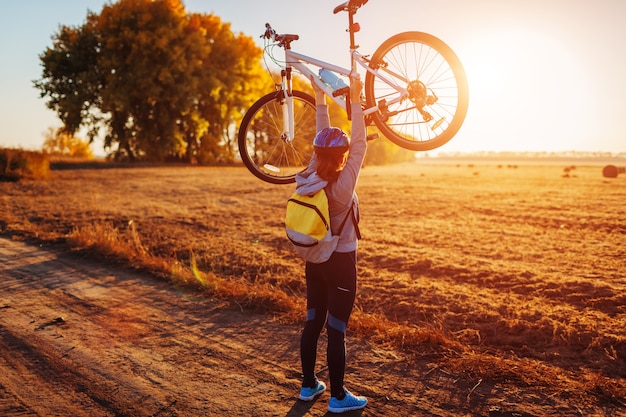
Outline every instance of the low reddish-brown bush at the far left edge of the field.
{"type": "Polygon", "coordinates": [[[50,159],[47,155],[22,149],[0,149],[0,181],[46,179],[49,176],[50,159]]]}

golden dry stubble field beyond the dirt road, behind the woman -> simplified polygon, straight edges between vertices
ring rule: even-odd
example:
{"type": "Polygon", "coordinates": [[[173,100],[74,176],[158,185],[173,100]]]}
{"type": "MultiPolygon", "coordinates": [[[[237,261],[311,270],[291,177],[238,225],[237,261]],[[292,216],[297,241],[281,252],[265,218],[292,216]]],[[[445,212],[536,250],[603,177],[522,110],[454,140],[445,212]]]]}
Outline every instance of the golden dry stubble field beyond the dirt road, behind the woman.
{"type": "MultiPolygon", "coordinates": [[[[545,406],[571,400],[580,415],[626,413],[626,176],[563,167],[365,168],[351,337],[462,376],[468,401],[498,383],[545,406]]],[[[54,171],[0,183],[0,230],[117,246],[161,272],[164,260],[174,281],[191,267],[210,296],[211,279],[233,283],[221,295],[233,305],[293,323],[300,312],[271,295],[302,305],[303,265],[282,226],[292,191],[243,168],[54,171]]]]}

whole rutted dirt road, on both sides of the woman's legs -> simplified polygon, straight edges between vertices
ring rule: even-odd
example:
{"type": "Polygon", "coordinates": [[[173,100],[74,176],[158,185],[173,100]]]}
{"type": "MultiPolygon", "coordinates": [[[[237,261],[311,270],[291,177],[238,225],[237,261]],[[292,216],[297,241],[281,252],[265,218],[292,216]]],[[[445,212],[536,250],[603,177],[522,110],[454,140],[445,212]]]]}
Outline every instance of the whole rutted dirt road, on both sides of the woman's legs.
{"type": "MultiPolygon", "coordinates": [[[[0,258],[0,415],[328,415],[328,394],[295,398],[297,326],[54,245],[0,238],[0,258]]],[[[582,415],[546,393],[348,346],[347,384],[370,401],[348,416],[582,415]]]]}

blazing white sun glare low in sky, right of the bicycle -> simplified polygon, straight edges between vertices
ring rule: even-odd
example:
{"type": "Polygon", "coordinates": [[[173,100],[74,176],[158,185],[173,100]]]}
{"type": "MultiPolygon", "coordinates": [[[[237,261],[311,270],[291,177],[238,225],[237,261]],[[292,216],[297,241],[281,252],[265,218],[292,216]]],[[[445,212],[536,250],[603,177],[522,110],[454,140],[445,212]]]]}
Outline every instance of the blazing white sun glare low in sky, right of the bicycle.
{"type": "MultiPolygon", "coordinates": [[[[469,38],[467,124],[481,150],[567,148],[592,126],[584,66],[562,42],[532,28],[494,28],[469,38]]],[[[570,148],[571,149],[571,148],[570,148]]]]}

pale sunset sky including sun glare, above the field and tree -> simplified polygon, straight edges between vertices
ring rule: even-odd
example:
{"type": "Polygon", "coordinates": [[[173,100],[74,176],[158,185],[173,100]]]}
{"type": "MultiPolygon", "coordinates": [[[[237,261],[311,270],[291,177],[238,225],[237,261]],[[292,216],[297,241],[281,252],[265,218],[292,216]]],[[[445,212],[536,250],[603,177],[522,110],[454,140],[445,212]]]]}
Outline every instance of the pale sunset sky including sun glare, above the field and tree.
{"type": "MultiPolygon", "coordinates": [[[[32,80],[59,25],[82,25],[103,0],[0,4],[0,146],[39,149],[60,125],[32,80]]],[[[259,45],[264,24],[298,33],[294,49],[348,65],[339,0],[187,0],[259,45]]],[[[370,0],[357,14],[361,52],[402,31],[431,33],[465,66],[470,107],[441,151],[626,152],[626,1],[370,0]]],[[[102,153],[102,149],[94,149],[102,153]]]]}

